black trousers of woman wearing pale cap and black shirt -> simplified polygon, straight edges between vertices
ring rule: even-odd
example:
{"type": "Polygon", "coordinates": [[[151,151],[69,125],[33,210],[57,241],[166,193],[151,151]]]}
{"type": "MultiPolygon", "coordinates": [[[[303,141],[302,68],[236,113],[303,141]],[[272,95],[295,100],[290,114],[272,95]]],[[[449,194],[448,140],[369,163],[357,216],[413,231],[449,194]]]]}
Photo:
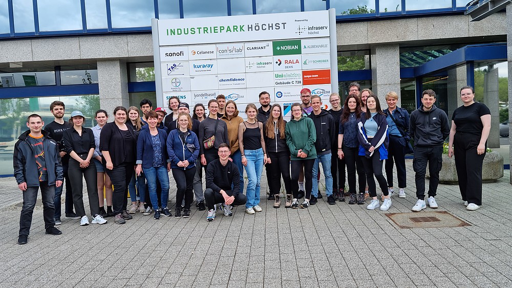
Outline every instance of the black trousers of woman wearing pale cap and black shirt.
{"type": "MultiPolygon", "coordinates": [[[[87,157],[87,155],[85,155],[87,157]]],[[[98,174],[96,173],[96,165],[91,163],[86,168],[80,168],[80,163],[75,159],[69,160],[68,176],[73,185],[73,204],[77,216],[85,216],[86,210],[83,208],[83,184],[82,177],[86,180],[87,195],[89,196],[89,209],[94,217],[99,214],[98,200],[98,174]]]]}

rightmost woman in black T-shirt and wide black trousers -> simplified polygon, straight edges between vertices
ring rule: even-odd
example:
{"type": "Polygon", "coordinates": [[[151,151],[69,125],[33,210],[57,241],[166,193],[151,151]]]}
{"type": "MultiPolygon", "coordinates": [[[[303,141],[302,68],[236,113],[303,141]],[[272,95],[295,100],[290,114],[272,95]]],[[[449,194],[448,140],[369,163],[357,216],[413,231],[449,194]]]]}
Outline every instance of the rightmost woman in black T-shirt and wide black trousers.
{"type": "Polygon", "coordinates": [[[455,168],[460,194],[467,210],[477,210],[482,205],[482,163],[490,131],[490,110],[483,103],[475,102],[471,86],[460,89],[464,105],[452,115],[448,156],[455,155],[455,168]]]}

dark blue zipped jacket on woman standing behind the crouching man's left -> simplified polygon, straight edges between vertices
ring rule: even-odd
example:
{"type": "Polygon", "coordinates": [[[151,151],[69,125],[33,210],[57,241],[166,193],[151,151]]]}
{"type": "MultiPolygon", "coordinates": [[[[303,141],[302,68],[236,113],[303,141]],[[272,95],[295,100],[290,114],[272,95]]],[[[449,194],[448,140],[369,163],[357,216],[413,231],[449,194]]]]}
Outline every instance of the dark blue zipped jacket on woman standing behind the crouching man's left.
{"type": "Polygon", "coordinates": [[[196,167],[196,159],[199,156],[199,140],[197,135],[188,130],[185,142],[183,142],[179,132],[180,129],[174,129],[170,131],[169,137],[167,137],[167,153],[169,154],[170,167],[183,170],[194,168],[196,167]],[[188,147],[194,149],[194,152],[191,152],[188,147]],[[178,163],[185,160],[188,160],[188,166],[178,167],[178,163]]]}

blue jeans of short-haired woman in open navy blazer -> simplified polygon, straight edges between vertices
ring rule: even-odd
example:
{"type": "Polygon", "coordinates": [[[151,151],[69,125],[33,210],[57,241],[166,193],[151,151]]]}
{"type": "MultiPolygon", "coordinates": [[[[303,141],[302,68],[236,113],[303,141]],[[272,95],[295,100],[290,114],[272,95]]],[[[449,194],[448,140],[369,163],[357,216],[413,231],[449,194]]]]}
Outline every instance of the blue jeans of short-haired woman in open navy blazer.
{"type": "Polygon", "coordinates": [[[144,174],[146,174],[147,189],[150,192],[153,210],[158,210],[157,178],[162,188],[162,209],[167,208],[167,200],[169,198],[169,173],[167,172],[167,165],[142,169],[144,174]]]}

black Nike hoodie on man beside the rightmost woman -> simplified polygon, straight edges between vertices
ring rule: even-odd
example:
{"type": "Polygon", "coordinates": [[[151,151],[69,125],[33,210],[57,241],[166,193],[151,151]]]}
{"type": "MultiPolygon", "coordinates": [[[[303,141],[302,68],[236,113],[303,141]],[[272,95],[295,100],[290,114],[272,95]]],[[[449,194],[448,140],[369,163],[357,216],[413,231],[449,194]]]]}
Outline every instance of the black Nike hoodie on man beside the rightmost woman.
{"type": "Polygon", "coordinates": [[[411,113],[409,133],[414,138],[414,146],[442,146],[450,135],[448,116],[436,105],[428,111],[423,110],[421,105],[411,113]]]}

